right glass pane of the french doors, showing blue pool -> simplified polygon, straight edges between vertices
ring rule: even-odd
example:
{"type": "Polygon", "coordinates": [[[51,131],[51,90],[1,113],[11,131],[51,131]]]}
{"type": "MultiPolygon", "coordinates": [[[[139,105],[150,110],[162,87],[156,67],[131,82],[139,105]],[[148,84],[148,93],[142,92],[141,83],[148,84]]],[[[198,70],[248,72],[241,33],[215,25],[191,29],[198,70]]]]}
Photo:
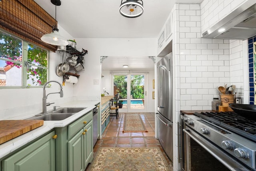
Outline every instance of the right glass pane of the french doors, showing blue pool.
{"type": "Polygon", "coordinates": [[[144,109],[144,75],[131,75],[131,109],[144,109]]]}

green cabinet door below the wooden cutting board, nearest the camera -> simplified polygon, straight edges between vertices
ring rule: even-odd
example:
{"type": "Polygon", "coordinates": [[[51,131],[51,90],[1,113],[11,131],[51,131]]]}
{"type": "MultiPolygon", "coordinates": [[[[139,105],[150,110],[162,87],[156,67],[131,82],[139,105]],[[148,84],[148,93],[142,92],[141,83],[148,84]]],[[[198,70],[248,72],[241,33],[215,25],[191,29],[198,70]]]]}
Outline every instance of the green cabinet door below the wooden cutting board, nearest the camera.
{"type": "Polygon", "coordinates": [[[55,171],[54,131],[2,161],[2,171],[55,171]]]}

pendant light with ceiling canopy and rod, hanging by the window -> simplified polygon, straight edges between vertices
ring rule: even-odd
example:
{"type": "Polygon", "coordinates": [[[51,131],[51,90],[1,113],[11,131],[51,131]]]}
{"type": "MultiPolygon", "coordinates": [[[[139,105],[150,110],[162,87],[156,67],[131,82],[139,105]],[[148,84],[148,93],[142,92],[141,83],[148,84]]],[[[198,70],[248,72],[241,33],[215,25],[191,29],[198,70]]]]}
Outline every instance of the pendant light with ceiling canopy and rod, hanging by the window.
{"type": "MultiPolygon", "coordinates": [[[[51,0],[52,4],[55,5],[55,20],[56,20],[56,6],[60,6],[60,0],[51,0]]],[[[52,33],[45,34],[42,36],[41,40],[47,44],[55,45],[55,46],[66,46],[68,45],[68,41],[60,36],[59,29],[56,26],[52,26],[52,33]]]]}

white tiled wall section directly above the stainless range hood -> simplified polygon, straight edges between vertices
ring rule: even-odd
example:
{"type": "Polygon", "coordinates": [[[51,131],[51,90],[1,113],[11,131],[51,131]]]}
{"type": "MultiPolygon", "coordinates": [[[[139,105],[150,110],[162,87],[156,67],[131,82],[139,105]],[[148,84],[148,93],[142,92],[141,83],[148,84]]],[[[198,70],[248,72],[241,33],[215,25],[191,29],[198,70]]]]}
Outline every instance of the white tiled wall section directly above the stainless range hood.
{"type": "Polygon", "coordinates": [[[202,33],[248,0],[203,0],[201,3],[202,33]]]}

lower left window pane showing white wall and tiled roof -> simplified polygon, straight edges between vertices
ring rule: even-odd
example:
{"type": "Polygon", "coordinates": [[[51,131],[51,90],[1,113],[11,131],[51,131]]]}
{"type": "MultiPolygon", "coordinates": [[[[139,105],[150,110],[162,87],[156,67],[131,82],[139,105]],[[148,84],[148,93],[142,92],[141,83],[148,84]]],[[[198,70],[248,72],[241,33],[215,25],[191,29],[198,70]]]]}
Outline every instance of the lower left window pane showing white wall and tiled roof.
{"type": "Polygon", "coordinates": [[[0,59],[0,86],[21,86],[21,78],[21,64],[0,59]]]}

